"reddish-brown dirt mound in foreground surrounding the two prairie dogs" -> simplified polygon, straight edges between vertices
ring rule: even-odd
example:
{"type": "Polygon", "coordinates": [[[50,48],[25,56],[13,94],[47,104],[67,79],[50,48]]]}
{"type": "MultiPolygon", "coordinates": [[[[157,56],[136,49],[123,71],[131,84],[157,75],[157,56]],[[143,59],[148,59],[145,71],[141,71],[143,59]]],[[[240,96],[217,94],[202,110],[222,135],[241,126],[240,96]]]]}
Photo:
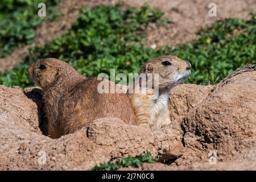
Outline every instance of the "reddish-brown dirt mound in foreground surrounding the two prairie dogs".
{"type": "Polygon", "coordinates": [[[138,169],[256,169],[255,74],[247,65],[216,86],[177,86],[170,93],[173,122],[154,133],[102,118],[59,139],[43,135],[40,89],[0,86],[0,169],[88,169],[146,151],[166,164],[138,169]]]}

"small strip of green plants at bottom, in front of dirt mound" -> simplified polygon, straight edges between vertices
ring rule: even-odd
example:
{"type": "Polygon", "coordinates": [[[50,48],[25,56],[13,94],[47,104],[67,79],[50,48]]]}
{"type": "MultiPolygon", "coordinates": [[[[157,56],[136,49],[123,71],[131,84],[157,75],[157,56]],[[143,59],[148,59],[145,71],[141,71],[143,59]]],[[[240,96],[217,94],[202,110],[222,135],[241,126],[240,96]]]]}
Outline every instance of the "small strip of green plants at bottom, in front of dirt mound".
{"type": "Polygon", "coordinates": [[[150,152],[147,152],[146,155],[137,155],[135,157],[127,157],[117,159],[116,162],[107,162],[102,163],[100,166],[95,166],[94,168],[90,169],[91,171],[115,171],[121,167],[139,167],[143,163],[155,163],[157,160],[153,159],[150,152]]]}

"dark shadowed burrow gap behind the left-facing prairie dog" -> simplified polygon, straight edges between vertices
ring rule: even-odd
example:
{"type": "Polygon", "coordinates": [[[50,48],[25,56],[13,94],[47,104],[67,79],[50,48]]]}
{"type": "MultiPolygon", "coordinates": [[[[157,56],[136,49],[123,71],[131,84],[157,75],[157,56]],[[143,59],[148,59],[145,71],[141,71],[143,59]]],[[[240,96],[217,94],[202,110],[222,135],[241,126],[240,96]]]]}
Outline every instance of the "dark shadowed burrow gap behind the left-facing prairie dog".
{"type": "Polygon", "coordinates": [[[43,135],[48,136],[47,133],[47,118],[44,112],[44,101],[43,101],[43,91],[41,89],[35,88],[31,91],[26,92],[25,95],[27,98],[30,98],[38,106],[38,118],[39,118],[39,129],[43,135]]]}

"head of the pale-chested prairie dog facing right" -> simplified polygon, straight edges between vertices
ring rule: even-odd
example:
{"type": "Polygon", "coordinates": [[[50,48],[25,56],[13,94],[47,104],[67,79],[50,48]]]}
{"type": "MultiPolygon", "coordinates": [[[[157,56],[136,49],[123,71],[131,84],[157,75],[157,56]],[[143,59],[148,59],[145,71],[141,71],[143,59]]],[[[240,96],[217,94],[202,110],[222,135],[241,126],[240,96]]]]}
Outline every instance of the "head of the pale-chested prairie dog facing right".
{"type": "Polygon", "coordinates": [[[155,77],[154,74],[158,73],[159,89],[162,90],[180,84],[191,74],[190,69],[191,64],[188,61],[168,55],[147,61],[140,73],[146,73],[147,78],[151,74],[152,79],[155,77]]]}

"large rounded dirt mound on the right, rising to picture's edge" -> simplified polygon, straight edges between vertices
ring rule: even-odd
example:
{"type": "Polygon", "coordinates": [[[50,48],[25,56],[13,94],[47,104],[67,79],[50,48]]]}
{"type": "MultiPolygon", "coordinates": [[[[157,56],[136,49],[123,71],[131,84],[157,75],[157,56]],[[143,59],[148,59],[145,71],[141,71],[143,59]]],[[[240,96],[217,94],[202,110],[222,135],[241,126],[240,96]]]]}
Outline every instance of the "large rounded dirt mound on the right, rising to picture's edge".
{"type": "MultiPolygon", "coordinates": [[[[207,162],[209,152],[215,151],[218,162],[227,162],[243,150],[255,147],[255,70],[255,65],[238,69],[188,112],[181,125],[186,160],[207,162]]],[[[184,163],[181,159],[179,162],[184,163]]]]}

